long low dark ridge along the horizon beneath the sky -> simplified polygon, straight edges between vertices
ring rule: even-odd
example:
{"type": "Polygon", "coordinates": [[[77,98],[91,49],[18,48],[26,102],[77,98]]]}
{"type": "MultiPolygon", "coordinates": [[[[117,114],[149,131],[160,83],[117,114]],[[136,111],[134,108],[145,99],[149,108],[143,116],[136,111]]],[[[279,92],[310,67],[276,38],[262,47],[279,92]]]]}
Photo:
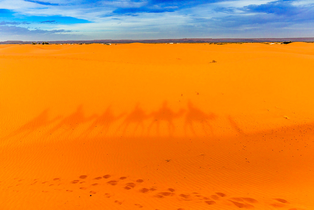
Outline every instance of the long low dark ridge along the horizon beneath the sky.
{"type": "MultiPolygon", "coordinates": [[[[47,40],[45,40],[47,41],[47,40]]],[[[304,41],[314,42],[314,37],[308,38],[225,38],[225,39],[211,39],[211,38],[185,38],[185,39],[100,39],[100,40],[67,40],[67,41],[48,41],[50,44],[57,43],[204,43],[204,42],[283,42],[283,41],[304,41]]],[[[32,42],[43,42],[43,41],[0,41],[0,44],[31,44],[32,42]]]]}

